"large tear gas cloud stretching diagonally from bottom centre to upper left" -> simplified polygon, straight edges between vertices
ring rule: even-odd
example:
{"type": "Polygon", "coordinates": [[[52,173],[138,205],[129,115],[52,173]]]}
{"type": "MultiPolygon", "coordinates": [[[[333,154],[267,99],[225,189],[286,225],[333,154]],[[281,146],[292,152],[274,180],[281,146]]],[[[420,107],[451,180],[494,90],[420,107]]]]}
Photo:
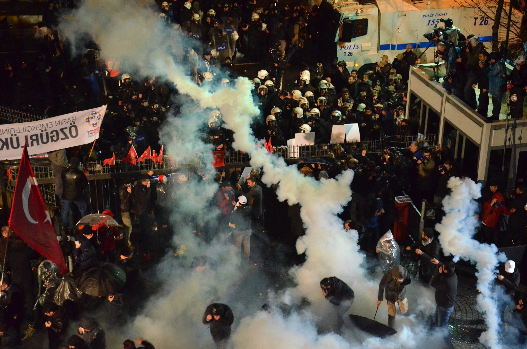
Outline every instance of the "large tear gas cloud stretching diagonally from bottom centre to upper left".
{"type": "MultiPolygon", "coordinates": [[[[240,298],[243,297],[243,287],[251,287],[247,286],[251,284],[247,282],[251,273],[238,266],[238,253],[231,243],[217,237],[211,244],[202,244],[193,232],[180,231],[174,237],[175,246],[186,245],[185,253],[190,258],[194,255],[213,258],[218,261],[218,268],[205,273],[190,272],[189,257],[174,260],[169,253],[157,267],[157,277],[164,284],[161,291],[151,297],[144,311],[128,328],[110,333],[113,344],[120,345],[125,336],[140,336],[147,340],[151,338],[161,349],[211,347],[212,341],[208,329],[201,323],[201,316],[210,298],[214,298],[233,308],[235,332],[232,343],[240,349],[389,348],[401,345],[417,348],[424,343],[428,347],[441,347],[441,335],[431,335],[421,325],[433,309],[431,291],[414,283],[409,286],[408,297],[413,298],[411,307],[417,309],[417,314],[398,317],[399,332],[395,336],[381,340],[354,330],[346,330],[343,335],[319,334],[320,328],[324,327],[322,324],[328,322],[329,316],[325,314],[332,307],[319,291],[319,281],[323,277],[335,275],[353,288],[355,303],[350,312],[370,318],[375,312],[380,274],[375,278],[367,274],[363,267],[367,263],[365,256],[357,246],[357,232],[345,232],[343,222],[337,217],[352,195],[349,185],[353,172],[346,171],[335,180],[315,181],[301,175],[296,166],[287,166],[283,159],[269,156],[265,149],[256,147],[256,138],[249,126],[252,117],[259,115],[260,111],[252,100],[252,84],[247,78],[239,77],[236,84],[210,92],[193,83],[185,74],[186,67],[175,65],[172,59],[167,59],[166,53],[166,46],[172,45],[175,54],[181,55],[188,39],[177,29],[168,28],[156,19],[151,6],[155,4],[85,0],[69,15],[69,21],[61,24],[61,28],[74,43],[73,47],[82,46],[83,33],[89,33],[100,45],[102,59],[122,61],[121,72],[129,69],[139,77],[154,75],[168,79],[181,95],[190,98],[181,99],[182,112],[177,117],[170,116],[161,130],[161,143],[165,145],[166,153],[177,161],[189,161],[189,156],[197,152],[210,154],[210,145],[200,140],[201,125],[208,119],[206,110],[219,109],[225,127],[234,132],[233,147],[249,153],[252,166],[264,168],[261,180],[267,185],[278,184],[279,200],[301,205],[300,215],[306,235],[298,240],[297,252],[306,252],[306,262],[290,271],[296,287],[268,296],[276,304],[295,304],[300,297],[307,297],[311,305],[290,316],[280,315],[277,308],[270,314],[258,311],[261,304],[247,306],[240,298]]],[[[185,196],[191,200],[185,201],[187,206],[182,211],[178,211],[181,205],[175,208],[173,225],[181,226],[184,216],[192,213],[214,212],[210,202],[216,188],[216,184],[190,181],[185,196]],[[205,190],[203,185],[206,185],[205,190]]],[[[175,201],[180,199],[177,197],[175,201]]],[[[265,285],[266,281],[252,283],[265,285]]],[[[377,317],[381,322],[386,322],[385,304],[383,302],[377,317]]],[[[334,316],[330,315],[332,319],[334,316]]]]}

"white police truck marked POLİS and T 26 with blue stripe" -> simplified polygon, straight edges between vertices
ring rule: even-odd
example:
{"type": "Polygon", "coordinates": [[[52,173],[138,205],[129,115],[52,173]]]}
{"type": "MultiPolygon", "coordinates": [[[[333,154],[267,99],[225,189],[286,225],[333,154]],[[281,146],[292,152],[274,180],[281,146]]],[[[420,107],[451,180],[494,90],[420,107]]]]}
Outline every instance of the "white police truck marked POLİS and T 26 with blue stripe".
{"type": "MultiPolygon", "coordinates": [[[[346,62],[348,70],[358,69],[362,75],[368,69],[375,69],[375,63],[383,55],[388,55],[392,63],[407,45],[412,46],[417,56],[421,55],[431,45],[431,40],[424,35],[430,38],[434,29],[447,28],[451,25],[450,21],[445,23],[448,18],[464,36],[474,34],[490,49],[494,18],[482,16],[477,9],[462,3],[463,0],[323,0],[320,11],[334,18],[333,52],[336,46],[337,60],[346,62]]],[[[496,5],[491,2],[485,13],[495,12],[493,6],[496,5]]],[[[505,0],[502,23],[507,21],[508,8],[505,0]]],[[[511,21],[519,24],[521,18],[520,12],[513,10],[511,21]]],[[[500,26],[500,39],[505,37],[505,31],[500,26]]],[[[516,39],[511,31],[509,42],[516,39]]],[[[420,57],[420,62],[433,63],[434,53],[432,45],[420,57]]]]}

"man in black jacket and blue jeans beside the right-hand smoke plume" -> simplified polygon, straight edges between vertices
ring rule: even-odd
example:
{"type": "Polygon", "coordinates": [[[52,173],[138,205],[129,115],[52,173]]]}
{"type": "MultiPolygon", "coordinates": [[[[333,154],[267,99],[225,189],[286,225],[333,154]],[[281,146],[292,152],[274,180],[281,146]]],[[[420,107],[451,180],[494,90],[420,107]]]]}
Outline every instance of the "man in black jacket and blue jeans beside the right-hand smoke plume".
{"type": "Polygon", "coordinates": [[[457,275],[452,261],[439,263],[438,273],[434,274],[431,286],[435,288],[435,314],[433,325],[445,328],[454,311],[457,294],[457,275]]]}

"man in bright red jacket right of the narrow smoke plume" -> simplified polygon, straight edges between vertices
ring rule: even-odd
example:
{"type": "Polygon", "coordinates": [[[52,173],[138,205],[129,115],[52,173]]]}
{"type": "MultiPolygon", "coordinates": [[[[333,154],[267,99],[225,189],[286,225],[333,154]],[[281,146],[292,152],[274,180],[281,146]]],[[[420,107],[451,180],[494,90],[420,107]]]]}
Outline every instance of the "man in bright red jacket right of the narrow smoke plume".
{"type": "Polygon", "coordinates": [[[515,208],[509,210],[505,207],[505,199],[501,193],[495,193],[490,200],[483,204],[483,224],[481,225],[481,242],[496,243],[497,233],[500,230],[501,214],[510,215],[516,212],[515,208]]]}

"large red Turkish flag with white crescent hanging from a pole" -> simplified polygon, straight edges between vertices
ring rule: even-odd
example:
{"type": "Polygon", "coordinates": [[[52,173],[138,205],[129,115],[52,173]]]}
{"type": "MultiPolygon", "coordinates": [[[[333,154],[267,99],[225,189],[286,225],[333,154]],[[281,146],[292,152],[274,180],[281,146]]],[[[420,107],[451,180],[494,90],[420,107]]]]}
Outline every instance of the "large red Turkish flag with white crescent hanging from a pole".
{"type": "Polygon", "coordinates": [[[58,265],[61,273],[67,271],[66,262],[51,223],[50,213],[46,211],[33,168],[31,168],[26,146],[24,146],[16,178],[9,226],[33,250],[58,265]]]}

